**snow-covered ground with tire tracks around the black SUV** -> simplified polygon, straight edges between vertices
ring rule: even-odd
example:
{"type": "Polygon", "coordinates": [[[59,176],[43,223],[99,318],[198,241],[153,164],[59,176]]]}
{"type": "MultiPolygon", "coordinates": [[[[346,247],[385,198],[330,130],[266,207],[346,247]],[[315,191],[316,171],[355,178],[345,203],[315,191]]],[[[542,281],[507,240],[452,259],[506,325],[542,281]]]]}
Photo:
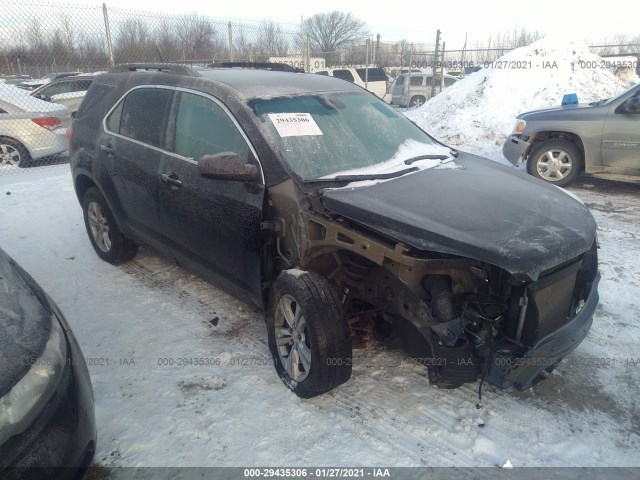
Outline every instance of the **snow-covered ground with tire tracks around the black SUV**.
{"type": "Polygon", "coordinates": [[[68,165],[0,188],[2,248],[88,359],[98,465],[640,466],[638,186],[571,189],[599,228],[593,328],[531,390],[485,386],[481,410],[477,384],[432,388],[423,367],[376,346],[355,351],[347,384],[301,400],[276,375],[259,311],[152,251],[117,267],[96,256],[68,165]]]}

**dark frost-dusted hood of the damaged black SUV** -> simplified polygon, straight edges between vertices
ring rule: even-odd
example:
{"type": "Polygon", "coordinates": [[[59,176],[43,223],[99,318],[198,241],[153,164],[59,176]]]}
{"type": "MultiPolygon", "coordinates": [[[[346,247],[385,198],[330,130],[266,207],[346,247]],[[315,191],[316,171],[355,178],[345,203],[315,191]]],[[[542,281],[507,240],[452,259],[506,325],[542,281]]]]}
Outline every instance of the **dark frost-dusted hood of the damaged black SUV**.
{"type": "Polygon", "coordinates": [[[531,280],[593,244],[593,216],[560,188],[462,152],[455,163],[462,168],[327,190],[322,203],[417,249],[474,258],[531,280]]]}

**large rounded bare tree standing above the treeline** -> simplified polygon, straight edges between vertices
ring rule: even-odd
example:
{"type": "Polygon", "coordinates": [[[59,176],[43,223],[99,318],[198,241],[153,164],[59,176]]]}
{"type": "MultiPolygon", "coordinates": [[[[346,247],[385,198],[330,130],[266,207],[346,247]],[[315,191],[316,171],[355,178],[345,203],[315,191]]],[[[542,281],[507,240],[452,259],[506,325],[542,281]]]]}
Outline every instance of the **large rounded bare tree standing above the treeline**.
{"type": "Polygon", "coordinates": [[[312,49],[324,55],[327,62],[335,52],[344,51],[356,43],[364,42],[369,34],[366,24],[353,15],[334,10],[316,13],[304,22],[312,49]]]}

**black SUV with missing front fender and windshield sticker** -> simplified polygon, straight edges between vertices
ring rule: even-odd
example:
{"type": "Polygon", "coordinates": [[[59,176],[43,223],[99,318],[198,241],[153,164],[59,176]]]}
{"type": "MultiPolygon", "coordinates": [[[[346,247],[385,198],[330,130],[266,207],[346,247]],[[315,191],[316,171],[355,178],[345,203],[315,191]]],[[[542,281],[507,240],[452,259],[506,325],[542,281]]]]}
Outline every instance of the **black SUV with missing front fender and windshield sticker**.
{"type": "Polygon", "coordinates": [[[591,326],[587,208],[347,82],[119,66],[94,80],[70,152],[96,253],[115,264],[142,242],[264,308],[301,397],[350,378],[363,325],[433,384],[520,389],[591,326]]]}

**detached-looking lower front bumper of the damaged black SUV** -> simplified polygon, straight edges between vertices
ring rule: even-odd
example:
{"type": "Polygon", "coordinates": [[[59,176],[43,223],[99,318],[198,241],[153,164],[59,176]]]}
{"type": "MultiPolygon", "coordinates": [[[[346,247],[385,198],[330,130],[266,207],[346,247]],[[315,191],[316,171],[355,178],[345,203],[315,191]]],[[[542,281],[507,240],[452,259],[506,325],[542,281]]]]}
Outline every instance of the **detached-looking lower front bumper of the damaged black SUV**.
{"type": "Polygon", "coordinates": [[[599,281],[600,274],[594,278],[580,313],[533,347],[518,352],[513,344],[505,340],[499,342],[489,359],[487,382],[500,388],[514,386],[526,390],[544,370],[551,371],[575,350],[591,328],[593,313],[598,306],[599,281]]]}

